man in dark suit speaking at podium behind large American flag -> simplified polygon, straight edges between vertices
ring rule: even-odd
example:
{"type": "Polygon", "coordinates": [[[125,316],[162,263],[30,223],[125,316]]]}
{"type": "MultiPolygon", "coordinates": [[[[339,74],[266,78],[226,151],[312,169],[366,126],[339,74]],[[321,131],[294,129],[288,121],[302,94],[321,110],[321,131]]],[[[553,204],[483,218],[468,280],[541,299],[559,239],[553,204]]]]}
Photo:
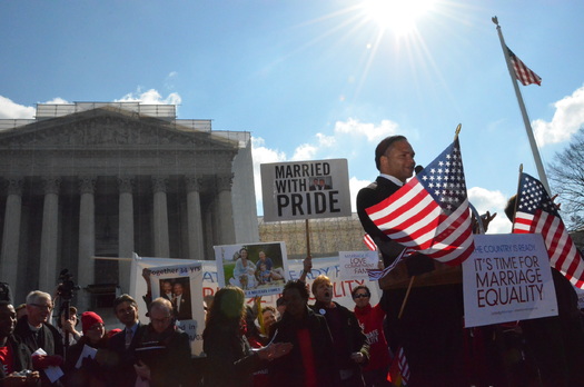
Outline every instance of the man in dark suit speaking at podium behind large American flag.
{"type": "MultiPolygon", "coordinates": [[[[392,264],[404,249],[372,221],[367,208],[395,194],[414,175],[414,149],[404,136],[387,137],[375,149],[379,177],[357,195],[357,214],[364,230],[377,245],[384,264],[392,264]]],[[[406,258],[409,276],[432,271],[434,262],[423,255],[406,258]]],[[[461,284],[412,288],[402,317],[406,289],[384,289],[382,306],[387,314],[389,345],[403,346],[412,373],[408,386],[462,386],[463,297],[461,284]],[[434,355],[433,355],[434,354],[434,355]],[[436,356],[435,354],[441,354],[436,356]]]]}

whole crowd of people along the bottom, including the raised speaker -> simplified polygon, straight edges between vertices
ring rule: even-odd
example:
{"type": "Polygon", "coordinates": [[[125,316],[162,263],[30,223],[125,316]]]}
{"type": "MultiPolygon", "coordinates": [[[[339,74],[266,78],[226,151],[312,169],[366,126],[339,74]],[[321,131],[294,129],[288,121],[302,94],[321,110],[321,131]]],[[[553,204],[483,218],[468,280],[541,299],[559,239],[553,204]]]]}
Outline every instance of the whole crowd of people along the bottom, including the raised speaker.
{"type": "MultiPolygon", "coordinates": [[[[380,176],[362,189],[357,208],[389,265],[403,247],[377,229],[365,209],[412,177],[414,150],[405,137],[389,137],[377,147],[375,160],[380,176]]],[[[475,220],[486,229],[494,216],[475,220]]],[[[404,264],[410,277],[434,270],[434,262],[422,255],[404,264]]],[[[370,304],[367,286],[356,286],[349,310],[334,300],[328,277],[314,278],[308,288],[310,269],[307,257],[300,278],[285,284],[276,308],[263,308],[260,299],[251,307],[246,287],[285,276],[263,251],[255,264],[247,249],[240,249],[234,269],[237,284],[205,298],[200,357],[191,356],[189,336],[176,324],[188,297],[178,281],[164,281],[162,296],[154,300],[148,290],[149,324],[139,321],[131,296],[116,298],[113,314],[122,328],[112,330],[95,311],[79,315],[68,304],[53,327],[53,300],[43,291],[31,291],[17,308],[2,300],[0,386],[584,386],[582,314],[574,288],[557,270],[552,270],[557,316],[465,328],[459,282],[384,289],[377,305],[370,304]]],[[[143,275],[148,279],[148,272],[143,275]]]]}

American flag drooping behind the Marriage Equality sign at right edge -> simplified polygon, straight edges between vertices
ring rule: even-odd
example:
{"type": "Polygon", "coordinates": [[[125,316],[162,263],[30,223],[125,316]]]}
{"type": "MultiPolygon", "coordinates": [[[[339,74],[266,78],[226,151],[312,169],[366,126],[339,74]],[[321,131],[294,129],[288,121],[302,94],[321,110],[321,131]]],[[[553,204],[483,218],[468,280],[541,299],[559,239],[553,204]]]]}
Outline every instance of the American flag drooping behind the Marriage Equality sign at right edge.
{"type": "Polygon", "coordinates": [[[542,234],[552,267],[574,286],[584,289],[584,257],[567,234],[544,186],[527,173],[522,173],[519,180],[513,232],[542,234]]]}

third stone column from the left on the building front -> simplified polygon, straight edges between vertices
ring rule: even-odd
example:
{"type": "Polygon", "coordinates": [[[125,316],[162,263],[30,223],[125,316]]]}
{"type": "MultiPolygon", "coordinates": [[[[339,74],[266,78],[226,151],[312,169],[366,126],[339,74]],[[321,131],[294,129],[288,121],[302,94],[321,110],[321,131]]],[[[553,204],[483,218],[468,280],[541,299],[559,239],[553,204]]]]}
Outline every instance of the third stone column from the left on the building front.
{"type": "MultiPolygon", "coordinates": [[[[96,190],[96,177],[80,176],[79,192],[79,264],[78,284],[81,288],[92,285],[96,280],[96,264],[91,257],[96,255],[96,204],[93,192],[96,190]]],[[[78,292],[79,310],[90,308],[89,292],[78,292]]]]}

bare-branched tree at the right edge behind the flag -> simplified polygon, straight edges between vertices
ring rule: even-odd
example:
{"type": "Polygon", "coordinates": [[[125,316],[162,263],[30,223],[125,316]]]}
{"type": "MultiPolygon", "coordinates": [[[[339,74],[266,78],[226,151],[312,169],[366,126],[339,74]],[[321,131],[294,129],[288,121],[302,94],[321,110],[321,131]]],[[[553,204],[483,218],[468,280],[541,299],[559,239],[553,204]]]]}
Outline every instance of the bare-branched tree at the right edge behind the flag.
{"type": "Polygon", "coordinates": [[[555,153],[548,168],[566,227],[573,231],[584,229],[584,127],[574,135],[566,149],[555,153]]]}

